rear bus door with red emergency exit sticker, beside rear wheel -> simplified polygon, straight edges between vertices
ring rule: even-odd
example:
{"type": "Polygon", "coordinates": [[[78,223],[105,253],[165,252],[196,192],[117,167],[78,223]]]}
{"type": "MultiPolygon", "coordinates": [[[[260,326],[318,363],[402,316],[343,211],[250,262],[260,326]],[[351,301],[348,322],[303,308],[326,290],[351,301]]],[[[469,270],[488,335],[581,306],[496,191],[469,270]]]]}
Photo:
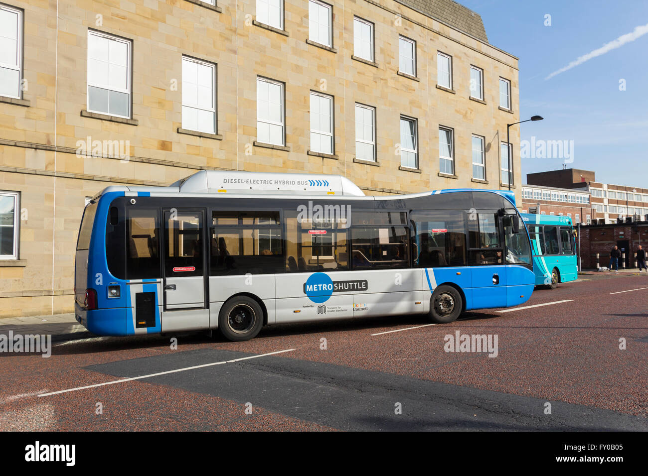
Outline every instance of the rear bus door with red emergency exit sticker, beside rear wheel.
{"type": "Polygon", "coordinates": [[[205,306],[205,212],[163,210],[162,332],[209,327],[205,306]]]}

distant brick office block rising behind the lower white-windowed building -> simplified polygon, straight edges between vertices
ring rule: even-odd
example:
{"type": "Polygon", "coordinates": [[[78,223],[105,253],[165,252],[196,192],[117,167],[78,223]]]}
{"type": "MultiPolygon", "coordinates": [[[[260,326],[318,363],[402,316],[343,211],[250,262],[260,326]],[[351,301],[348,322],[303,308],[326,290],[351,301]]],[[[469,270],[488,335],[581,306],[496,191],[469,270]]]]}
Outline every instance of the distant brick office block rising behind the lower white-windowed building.
{"type": "Polygon", "coordinates": [[[595,210],[592,223],[648,220],[648,188],[597,182],[589,170],[567,168],[527,174],[527,184],[571,189],[572,194],[577,190],[589,192],[595,210]]]}

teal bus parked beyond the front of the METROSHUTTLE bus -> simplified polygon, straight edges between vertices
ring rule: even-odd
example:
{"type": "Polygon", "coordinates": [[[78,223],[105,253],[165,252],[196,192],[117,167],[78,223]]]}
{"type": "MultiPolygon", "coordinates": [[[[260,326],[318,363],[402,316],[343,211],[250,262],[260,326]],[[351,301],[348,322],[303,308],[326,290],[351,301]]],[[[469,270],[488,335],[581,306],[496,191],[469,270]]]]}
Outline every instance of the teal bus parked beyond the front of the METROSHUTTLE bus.
{"type": "Polygon", "coordinates": [[[535,285],[555,289],[578,277],[572,219],[567,216],[522,213],[533,249],[535,285]]]}

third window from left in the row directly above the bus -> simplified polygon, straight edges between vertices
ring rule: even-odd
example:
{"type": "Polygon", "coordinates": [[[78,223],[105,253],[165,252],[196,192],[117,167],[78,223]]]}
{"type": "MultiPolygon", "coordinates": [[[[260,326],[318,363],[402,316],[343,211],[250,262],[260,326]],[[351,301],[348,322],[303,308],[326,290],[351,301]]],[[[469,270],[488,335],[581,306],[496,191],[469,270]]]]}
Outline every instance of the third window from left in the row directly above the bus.
{"type": "Polygon", "coordinates": [[[216,65],[182,57],[182,128],[216,133],[216,65]]]}

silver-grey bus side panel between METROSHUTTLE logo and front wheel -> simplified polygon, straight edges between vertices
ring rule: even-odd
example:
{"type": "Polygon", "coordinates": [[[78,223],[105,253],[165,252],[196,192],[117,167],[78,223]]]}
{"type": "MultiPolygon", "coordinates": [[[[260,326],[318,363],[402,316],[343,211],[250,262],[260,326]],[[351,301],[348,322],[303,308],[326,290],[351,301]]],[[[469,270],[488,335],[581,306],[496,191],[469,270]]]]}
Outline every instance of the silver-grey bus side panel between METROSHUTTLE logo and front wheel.
{"type": "Polygon", "coordinates": [[[419,269],[375,269],[367,273],[356,273],[367,277],[367,290],[354,293],[353,317],[423,312],[422,278],[419,269]],[[421,304],[416,304],[417,302],[421,304]]]}

